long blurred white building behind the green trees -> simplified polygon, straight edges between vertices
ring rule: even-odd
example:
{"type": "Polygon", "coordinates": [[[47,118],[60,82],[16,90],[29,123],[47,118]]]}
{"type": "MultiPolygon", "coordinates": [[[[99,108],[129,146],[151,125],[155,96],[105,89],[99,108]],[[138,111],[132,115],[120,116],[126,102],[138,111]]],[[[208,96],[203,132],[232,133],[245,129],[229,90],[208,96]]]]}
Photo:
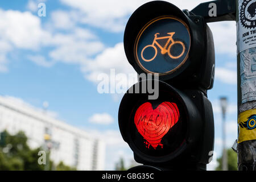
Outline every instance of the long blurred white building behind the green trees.
{"type": "Polygon", "coordinates": [[[51,117],[45,110],[0,96],[0,131],[5,129],[10,134],[24,131],[32,148],[49,147],[55,164],[63,161],[79,170],[104,170],[105,145],[101,140],[51,117]]]}

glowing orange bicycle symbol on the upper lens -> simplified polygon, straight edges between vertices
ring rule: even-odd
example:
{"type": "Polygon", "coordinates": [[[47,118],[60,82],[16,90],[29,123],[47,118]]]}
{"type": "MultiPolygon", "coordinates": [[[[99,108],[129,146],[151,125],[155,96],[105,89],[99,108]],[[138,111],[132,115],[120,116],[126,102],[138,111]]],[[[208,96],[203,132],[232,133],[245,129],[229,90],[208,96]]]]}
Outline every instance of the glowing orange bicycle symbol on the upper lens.
{"type": "Polygon", "coordinates": [[[170,35],[170,36],[162,36],[162,37],[158,38],[157,36],[159,35],[159,33],[156,33],[156,34],[155,34],[155,38],[154,38],[154,40],[153,40],[153,43],[152,43],[151,45],[145,46],[145,47],[142,49],[142,51],[141,51],[141,57],[142,57],[142,59],[143,59],[144,61],[150,62],[150,61],[154,60],[155,57],[156,57],[156,55],[158,54],[158,49],[156,48],[156,46],[154,46],[154,44],[156,44],[156,45],[161,49],[162,55],[164,55],[165,53],[168,52],[168,55],[169,55],[172,59],[178,59],[178,58],[180,58],[180,57],[184,54],[184,52],[185,52],[185,45],[184,45],[184,43],[183,43],[183,42],[180,42],[180,41],[174,41],[174,39],[172,39],[172,36],[174,36],[175,32],[169,32],[169,33],[167,33],[167,34],[170,35]],[[159,40],[159,39],[168,39],[168,41],[166,42],[166,44],[164,45],[164,47],[160,46],[160,44],[159,44],[158,42],[156,42],[156,40],[159,40]],[[170,42],[171,42],[171,44],[170,44],[170,46],[167,48],[167,46],[168,46],[168,44],[169,44],[170,42]],[[180,44],[180,45],[183,47],[183,51],[182,51],[182,52],[180,53],[180,55],[178,55],[178,56],[173,56],[173,55],[171,55],[171,52],[170,52],[171,47],[174,46],[175,44],[180,44]],[[145,59],[144,56],[143,56],[144,50],[145,50],[146,48],[148,48],[148,47],[152,47],[152,48],[155,49],[155,55],[154,55],[154,57],[152,57],[152,59],[145,59]],[[166,48],[167,48],[167,49],[166,49],[166,48]]]}

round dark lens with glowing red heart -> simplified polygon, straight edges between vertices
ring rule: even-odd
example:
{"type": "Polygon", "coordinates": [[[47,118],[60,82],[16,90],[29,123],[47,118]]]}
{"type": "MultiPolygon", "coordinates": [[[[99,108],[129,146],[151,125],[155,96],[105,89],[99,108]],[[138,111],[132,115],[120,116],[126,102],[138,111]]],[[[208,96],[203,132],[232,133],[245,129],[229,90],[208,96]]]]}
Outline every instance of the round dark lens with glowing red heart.
{"type": "Polygon", "coordinates": [[[155,157],[176,151],[187,134],[184,115],[184,106],[174,93],[166,92],[158,100],[142,97],[129,121],[134,150],[155,157]]]}

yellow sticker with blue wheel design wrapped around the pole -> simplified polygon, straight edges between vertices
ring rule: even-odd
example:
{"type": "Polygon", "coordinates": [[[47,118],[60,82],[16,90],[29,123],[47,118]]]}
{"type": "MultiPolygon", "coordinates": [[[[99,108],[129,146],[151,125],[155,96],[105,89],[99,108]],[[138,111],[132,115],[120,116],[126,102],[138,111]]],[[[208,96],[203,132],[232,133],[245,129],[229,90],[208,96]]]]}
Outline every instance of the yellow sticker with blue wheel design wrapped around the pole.
{"type": "Polygon", "coordinates": [[[256,109],[246,110],[238,115],[238,143],[256,139],[256,109]]]}

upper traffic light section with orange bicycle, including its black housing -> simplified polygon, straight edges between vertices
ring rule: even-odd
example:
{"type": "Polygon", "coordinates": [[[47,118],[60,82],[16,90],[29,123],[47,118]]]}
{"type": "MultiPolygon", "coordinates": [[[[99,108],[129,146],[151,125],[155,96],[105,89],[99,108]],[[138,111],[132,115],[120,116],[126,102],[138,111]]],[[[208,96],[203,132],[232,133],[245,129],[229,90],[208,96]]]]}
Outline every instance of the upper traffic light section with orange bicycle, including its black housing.
{"type": "Polygon", "coordinates": [[[202,90],[213,86],[213,36],[202,16],[164,1],[146,3],[127,22],[124,46],[139,74],[159,73],[172,85],[202,90]]]}

